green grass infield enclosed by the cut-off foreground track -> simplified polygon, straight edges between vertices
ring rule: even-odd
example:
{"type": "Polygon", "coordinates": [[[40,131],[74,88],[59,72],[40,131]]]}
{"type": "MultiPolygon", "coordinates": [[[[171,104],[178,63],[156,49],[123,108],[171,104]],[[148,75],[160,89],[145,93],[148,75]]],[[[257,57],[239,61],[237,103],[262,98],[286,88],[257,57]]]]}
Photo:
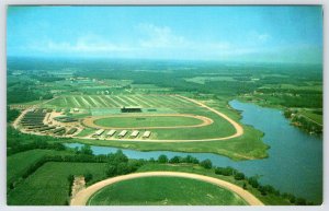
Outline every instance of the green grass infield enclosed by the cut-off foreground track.
{"type": "Polygon", "coordinates": [[[102,188],[89,206],[242,206],[236,194],[218,186],[179,177],[144,177],[102,188]]]}

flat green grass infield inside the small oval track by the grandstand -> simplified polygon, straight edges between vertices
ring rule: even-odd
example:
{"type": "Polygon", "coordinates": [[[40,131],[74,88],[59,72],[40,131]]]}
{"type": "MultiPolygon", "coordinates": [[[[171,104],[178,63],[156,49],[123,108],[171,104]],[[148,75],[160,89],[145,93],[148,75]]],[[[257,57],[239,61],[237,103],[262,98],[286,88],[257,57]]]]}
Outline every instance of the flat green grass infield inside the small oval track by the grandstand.
{"type": "Polygon", "coordinates": [[[141,117],[109,117],[97,119],[95,125],[105,127],[172,127],[172,126],[195,126],[203,121],[193,117],[177,116],[141,116],[141,117]]]}

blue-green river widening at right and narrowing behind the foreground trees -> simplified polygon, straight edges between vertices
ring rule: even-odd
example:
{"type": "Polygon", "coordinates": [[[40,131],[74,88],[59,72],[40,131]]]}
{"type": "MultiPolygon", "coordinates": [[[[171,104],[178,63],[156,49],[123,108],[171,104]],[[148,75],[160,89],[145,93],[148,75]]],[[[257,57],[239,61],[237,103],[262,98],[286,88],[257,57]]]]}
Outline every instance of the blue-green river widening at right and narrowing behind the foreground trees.
{"type": "MultiPolygon", "coordinates": [[[[160,154],[168,157],[188,154],[198,160],[209,159],[216,166],[231,166],[247,176],[259,175],[263,185],[272,185],[282,192],[292,192],[314,202],[322,200],[322,140],[309,136],[290,125],[282,112],[264,108],[254,104],[231,101],[229,105],[241,112],[241,122],[251,125],[264,132],[263,141],[271,148],[269,157],[253,161],[235,162],[226,156],[212,153],[182,153],[170,151],[140,152],[124,150],[131,159],[157,159],[160,154]]],[[[70,148],[79,143],[67,143],[70,148]]],[[[91,146],[94,154],[115,152],[116,148],[91,146]]]]}

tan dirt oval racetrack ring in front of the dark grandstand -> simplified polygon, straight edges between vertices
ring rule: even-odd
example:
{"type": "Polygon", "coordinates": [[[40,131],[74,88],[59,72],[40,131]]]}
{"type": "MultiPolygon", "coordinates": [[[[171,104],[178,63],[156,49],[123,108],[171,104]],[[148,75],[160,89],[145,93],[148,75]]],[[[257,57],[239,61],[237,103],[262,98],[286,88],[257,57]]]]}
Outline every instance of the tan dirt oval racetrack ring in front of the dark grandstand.
{"type": "Polygon", "coordinates": [[[91,117],[91,118],[86,118],[83,119],[83,125],[91,127],[91,128],[101,128],[101,129],[117,129],[117,130],[124,130],[124,129],[169,129],[169,128],[197,128],[197,127],[204,127],[207,125],[213,124],[214,120],[204,116],[198,116],[198,115],[188,115],[188,114],[154,114],[154,115],[148,115],[148,114],[121,114],[121,115],[106,115],[106,116],[101,116],[101,117],[91,117]],[[116,117],[116,118],[127,118],[127,117],[189,117],[189,118],[195,118],[200,119],[203,122],[197,124],[197,125],[192,125],[192,126],[154,126],[154,127],[106,127],[106,126],[99,126],[95,125],[94,121],[98,119],[103,119],[103,118],[111,118],[111,117],[116,117]]]}

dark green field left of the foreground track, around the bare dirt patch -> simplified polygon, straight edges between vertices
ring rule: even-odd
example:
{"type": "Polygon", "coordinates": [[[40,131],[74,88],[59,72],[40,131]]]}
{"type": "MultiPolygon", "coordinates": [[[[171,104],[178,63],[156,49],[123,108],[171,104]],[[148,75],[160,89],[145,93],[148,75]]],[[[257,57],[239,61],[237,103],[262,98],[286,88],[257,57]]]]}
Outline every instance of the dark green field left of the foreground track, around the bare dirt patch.
{"type": "MultiPolygon", "coordinates": [[[[92,173],[93,180],[105,178],[105,163],[48,162],[8,194],[10,206],[64,206],[69,199],[68,176],[92,173]]],[[[91,181],[92,183],[92,181],[91,181]]]]}

